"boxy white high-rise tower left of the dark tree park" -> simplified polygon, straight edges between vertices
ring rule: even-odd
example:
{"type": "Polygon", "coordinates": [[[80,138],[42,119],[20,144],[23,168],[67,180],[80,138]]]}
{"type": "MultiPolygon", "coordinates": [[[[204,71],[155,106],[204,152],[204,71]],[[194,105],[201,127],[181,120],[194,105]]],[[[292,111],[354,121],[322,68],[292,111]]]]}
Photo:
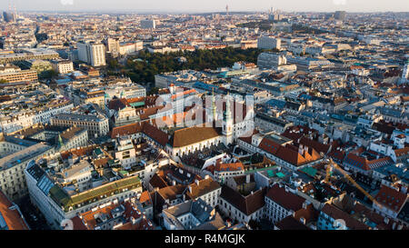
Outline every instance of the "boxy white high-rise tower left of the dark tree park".
{"type": "Polygon", "coordinates": [[[105,45],[94,42],[77,44],[78,60],[93,66],[103,66],[105,62],[105,45]]]}

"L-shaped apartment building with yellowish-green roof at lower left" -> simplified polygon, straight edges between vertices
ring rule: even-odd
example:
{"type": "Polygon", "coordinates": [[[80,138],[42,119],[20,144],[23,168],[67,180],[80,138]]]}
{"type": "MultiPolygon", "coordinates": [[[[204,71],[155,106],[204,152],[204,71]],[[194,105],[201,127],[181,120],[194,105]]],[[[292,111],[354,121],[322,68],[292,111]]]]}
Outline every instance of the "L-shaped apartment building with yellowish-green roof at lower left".
{"type": "Polygon", "coordinates": [[[142,193],[140,180],[137,176],[131,176],[69,194],[35,161],[27,166],[25,176],[32,202],[55,229],[62,228],[63,221],[70,220],[77,214],[96,211],[106,204],[138,197],[142,193]]]}

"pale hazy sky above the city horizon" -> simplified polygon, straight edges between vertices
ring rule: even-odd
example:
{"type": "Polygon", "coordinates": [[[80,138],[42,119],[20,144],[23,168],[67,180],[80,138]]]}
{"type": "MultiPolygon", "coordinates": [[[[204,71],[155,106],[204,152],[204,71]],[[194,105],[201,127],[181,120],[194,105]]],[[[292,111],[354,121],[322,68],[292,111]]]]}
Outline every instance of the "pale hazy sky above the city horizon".
{"type": "Polygon", "coordinates": [[[15,5],[17,11],[135,11],[135,12],[409,12],[409,0],[0,0],[0,9],[15,5]]]}

